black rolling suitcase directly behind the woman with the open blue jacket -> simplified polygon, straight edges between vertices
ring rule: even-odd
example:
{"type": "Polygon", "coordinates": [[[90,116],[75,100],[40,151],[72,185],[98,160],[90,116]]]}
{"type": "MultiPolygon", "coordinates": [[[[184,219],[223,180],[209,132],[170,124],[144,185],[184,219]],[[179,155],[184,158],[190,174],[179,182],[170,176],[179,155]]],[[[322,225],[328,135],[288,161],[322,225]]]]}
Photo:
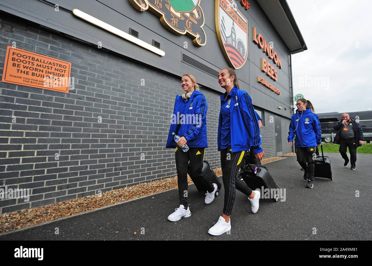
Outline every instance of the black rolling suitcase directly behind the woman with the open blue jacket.
{"type": "Polygon", "coordinates": [[[279,200],[279,188],[266,167],[248,163],[243,167],[241,177],[250,189],[259,188],[261,195],[264,193],[262,187],[270,189],[270,198],[275,202],[279,200]]]}

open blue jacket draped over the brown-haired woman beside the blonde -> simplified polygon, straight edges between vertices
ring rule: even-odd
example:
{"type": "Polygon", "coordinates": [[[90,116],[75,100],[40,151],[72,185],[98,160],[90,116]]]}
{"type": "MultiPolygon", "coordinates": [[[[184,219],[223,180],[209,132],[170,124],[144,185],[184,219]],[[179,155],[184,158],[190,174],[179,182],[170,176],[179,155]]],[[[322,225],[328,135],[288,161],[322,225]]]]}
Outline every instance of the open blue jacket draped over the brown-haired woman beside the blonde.
{"type": "MultiPolygon", "coordinates": [[[[227,93],[221,95],[221,106],[227,93]]],[[[254,154],[262,152],[260,147],[260,127],[253,109],[252,99],[247,92],[238,89],[235,85],[232,88],[230,101],[230,131],[231,131],[231,151],[247,151],[251,147],[254,154]]],[[[221,127],[222,115],[219,113],[217,144],[221,150],[221,127]]]]}

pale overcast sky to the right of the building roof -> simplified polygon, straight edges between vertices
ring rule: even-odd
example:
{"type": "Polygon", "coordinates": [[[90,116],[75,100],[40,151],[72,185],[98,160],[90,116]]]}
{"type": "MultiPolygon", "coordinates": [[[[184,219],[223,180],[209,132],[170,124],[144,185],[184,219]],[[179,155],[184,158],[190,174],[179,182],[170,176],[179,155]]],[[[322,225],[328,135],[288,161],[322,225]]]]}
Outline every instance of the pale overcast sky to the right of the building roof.
{"type": "Polygon", "coordinates": [[[287,0],[307,50],[292,55],[294,94],[316,113],[372,109],[372,1],[287,0]]]}

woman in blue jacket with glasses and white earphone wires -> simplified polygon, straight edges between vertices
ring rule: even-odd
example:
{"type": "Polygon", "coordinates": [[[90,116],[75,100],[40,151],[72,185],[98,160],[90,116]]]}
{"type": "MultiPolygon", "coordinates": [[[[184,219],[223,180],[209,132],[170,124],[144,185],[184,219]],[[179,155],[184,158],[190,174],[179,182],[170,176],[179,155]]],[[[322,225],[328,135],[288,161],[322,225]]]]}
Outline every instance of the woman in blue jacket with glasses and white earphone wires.
{"type": "MultiPolygon", "coordinates": [[[[304,168],[304,179],[307,180],[306,188],[314,187],[314,157],[316,147],[321,143],[321,127],[319,117],[311,109],[306,109],[307,100],[297,100],[297,110],[292,115],[289,125],[288,142],[293,145],[296,135],[296,155],[298,163],[304,168]]],[[[316,158],[316,157],[315,157],[316,158]]]]}

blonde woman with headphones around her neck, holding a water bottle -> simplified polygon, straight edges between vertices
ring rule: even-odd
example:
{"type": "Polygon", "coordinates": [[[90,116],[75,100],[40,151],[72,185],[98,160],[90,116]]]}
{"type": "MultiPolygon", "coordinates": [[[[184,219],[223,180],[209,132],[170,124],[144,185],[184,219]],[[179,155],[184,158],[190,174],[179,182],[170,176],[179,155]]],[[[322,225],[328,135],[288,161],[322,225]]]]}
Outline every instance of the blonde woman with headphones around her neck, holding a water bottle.
{"type": "Polygon", "coordinates": [[[217,184],[212,184],[208,177],[202,173],[204,150],[208,147],[206,126],[208,105],[205,96],[199,92],[196,79],[191,74],[183,75],[181,87],[185,93],[182,96],[176,96],[166,145],[166,148],[176,148],[175,157],[180,206],[168,217],[168,220],[173,222],[191,216],[187,201],[187,186],[189,185],[187,183],[187,166],[189,162],[194,178],[208,188],[205,197],[206,204],[214,200],[217,190],[217,184]],[[173,132],[180,137],[177,143],[174,141],[173,132]],[[189,147],[186,152],[181,148],[185,144],[189,147]]]}

